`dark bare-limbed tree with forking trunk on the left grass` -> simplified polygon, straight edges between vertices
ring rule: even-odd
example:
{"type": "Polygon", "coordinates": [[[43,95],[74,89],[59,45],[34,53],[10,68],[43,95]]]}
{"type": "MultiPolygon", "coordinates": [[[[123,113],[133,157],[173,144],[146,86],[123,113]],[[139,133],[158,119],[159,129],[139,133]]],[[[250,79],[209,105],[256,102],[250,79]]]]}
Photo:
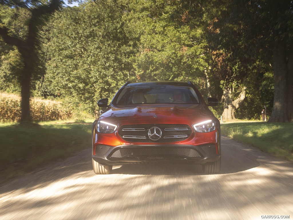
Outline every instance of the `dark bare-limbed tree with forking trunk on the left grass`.
{"type": "Polygon", "coordinates": [[[38,27],[42,24],[45,16],[52,14],[55,10],[61,7],[62,1],[51,0],[49,4],[43,4],[40,1],[10,1],[0,0],[1,5],[6,5],[16,9],[26,9],[30,13],[28,18],[27,28],[28,32],[24,39],[13,35],[13,31],[5,25],[0,27],[0,35],[5,43],[16,46],[21,54],[23,68],[21,73],[17,76],[21,84],[21,123],[31,123],[30,116],[30,86],[31,79],[35,70],[35,60],[37,56],[35,53],[35,46],[37,44],[38,27]]]}

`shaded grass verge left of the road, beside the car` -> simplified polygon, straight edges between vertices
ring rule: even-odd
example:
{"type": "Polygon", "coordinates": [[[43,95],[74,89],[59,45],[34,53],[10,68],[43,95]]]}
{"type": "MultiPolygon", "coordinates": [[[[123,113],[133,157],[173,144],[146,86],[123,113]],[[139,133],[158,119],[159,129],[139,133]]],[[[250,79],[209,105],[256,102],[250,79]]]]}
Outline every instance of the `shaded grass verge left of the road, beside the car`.
{"type": "Polygon", "coordinates": [[[93,121],[51,121],[29,127],[0,124],[1,179],[90,148],[93,121]]]}

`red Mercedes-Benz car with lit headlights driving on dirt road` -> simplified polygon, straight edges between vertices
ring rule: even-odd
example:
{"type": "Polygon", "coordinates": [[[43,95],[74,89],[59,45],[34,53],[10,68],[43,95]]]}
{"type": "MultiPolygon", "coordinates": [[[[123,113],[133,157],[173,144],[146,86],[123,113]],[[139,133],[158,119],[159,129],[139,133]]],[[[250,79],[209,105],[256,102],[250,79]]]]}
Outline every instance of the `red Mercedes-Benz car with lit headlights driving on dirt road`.
{"type": "Polygon", "coordinates": [[[92,160],[96,174],[115,164],[201,164],[204,173],[221,167],[220,122],[191,82],[126,83],[93,123],[92,160]]]}

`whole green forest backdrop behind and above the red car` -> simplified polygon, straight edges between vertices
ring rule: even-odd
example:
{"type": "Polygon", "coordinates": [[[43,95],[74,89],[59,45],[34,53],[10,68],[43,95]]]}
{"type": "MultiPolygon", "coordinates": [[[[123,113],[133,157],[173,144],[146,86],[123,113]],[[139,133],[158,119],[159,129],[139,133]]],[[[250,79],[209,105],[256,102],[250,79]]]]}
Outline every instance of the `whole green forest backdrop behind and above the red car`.
{"type": "Polygon", "coordinates": [[[0,90],[98,114],[125,82],[191,81],[219,118],[293,121],[289,0],[0,0],[0,90]]]}

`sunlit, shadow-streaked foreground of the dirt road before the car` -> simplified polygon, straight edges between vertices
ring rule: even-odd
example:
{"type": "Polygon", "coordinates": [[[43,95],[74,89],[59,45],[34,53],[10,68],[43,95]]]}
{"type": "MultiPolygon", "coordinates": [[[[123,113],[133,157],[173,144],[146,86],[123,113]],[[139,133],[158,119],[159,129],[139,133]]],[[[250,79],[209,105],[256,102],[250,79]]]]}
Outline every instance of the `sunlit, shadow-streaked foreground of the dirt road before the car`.
{"type": "MultiPolygon", "coordinates": [[[[292,169],[279,169],[287,169],[293,179],[292,169]]],[[[196,219],[195,210],[202,219],[243,219],[251,213],[260,216],[260,209],[267,214],[281,214],[280,210],[290,214],[292,185],[272,190],[282,185],[283,178],[271,167],[234,175],[94,175],[84,171],[31,190],[2,194],[0,219],[125,219],[129,213],[134,219],[196,219]],[[272,203],[273,209],[268,207],[272,203]],[[242,209],[235,212],[237,204],[242,209]],[[8,211],[11,206],[17,208],[8,211]]],[[[253,216],[246,219],[257,219],[253,216]]]]}

